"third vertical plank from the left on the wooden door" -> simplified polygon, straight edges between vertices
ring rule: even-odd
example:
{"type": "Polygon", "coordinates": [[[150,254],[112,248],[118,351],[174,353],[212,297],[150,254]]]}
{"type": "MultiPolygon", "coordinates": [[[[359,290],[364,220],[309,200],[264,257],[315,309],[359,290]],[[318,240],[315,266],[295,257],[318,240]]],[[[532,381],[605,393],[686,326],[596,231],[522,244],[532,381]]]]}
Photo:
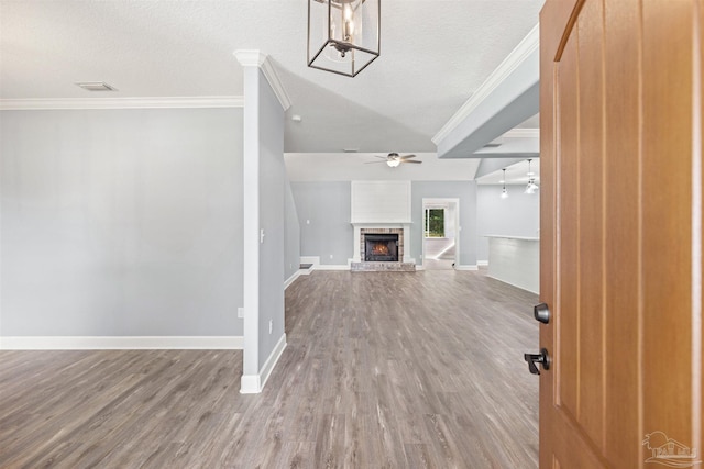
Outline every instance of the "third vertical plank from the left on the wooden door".
{"type": "Polygon", "coordinates": [[[605,456],[616,468],[638,467],[644,432],[639,426],[640,364],[640,40],[638,1],[612,1],[604,10],[605,54],[605,456]],[[610,156],[614,157],[610,157],[610,156]],[[616,157],[617,156],[617,157],[616,157]]]}

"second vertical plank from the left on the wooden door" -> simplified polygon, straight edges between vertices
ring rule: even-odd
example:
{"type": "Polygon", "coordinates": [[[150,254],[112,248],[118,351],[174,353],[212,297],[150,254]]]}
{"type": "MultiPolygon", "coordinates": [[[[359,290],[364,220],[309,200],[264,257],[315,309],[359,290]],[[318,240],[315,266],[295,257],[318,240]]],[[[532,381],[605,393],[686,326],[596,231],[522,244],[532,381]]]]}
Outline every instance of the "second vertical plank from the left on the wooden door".
{"type": "Polygon", "coordinates": [[[586,2],[576,24],[579,57],[579,418],[604,448],[604,76],[603,5],[586,2]]]}

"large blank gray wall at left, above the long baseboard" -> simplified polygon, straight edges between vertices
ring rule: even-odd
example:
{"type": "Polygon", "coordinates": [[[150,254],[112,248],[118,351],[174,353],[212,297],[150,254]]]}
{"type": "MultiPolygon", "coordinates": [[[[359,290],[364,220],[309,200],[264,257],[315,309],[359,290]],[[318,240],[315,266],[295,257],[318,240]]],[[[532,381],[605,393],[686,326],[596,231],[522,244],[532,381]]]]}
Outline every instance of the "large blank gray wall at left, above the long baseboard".
{"type": "Polygon", "coordinates": [[[4,111],[6,336],[242,335],[242,110],[4,111]]]}

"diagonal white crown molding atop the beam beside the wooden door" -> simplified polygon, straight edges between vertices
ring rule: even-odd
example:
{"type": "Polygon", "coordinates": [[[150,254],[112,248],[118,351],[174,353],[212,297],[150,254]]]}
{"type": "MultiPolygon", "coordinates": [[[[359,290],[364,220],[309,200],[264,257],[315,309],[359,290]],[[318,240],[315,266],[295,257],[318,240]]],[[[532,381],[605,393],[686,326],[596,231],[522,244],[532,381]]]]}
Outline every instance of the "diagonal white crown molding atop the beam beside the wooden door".
{"type": "Polygon", "coordinates": [[[540,46],[540,25],[536,24],[522,41],[506,56],[498,67],[484,80],[462,108],[432,137],[439,145],[458,125],[460,125],[506,78],[510,76],[540,46]]]}

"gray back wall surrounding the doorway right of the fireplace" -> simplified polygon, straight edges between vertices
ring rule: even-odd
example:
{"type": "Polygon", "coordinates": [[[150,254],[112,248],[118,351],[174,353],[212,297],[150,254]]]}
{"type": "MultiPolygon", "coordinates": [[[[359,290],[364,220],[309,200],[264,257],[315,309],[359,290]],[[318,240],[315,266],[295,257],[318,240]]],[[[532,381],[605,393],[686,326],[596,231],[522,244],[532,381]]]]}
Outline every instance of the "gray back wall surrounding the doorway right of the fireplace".
{"type": "Polygon", "coordinates": [[[414,181],[411,182],[410,256],[422,261],[422,199],[460,199],[460,266],[476,265],[476,182],[414,181]]]}

